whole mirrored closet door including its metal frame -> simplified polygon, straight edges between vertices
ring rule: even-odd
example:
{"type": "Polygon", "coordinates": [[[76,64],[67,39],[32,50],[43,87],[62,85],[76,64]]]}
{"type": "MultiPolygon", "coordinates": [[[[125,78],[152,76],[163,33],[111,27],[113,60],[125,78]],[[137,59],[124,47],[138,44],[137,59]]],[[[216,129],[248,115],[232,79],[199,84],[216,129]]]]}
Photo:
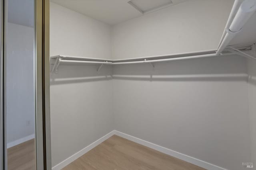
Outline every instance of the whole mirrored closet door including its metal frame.
{"type": "Polygon", "coordinates": [[[51,167],[46,157],[50,151],[46,140],[47,2],[1,3],[0,170],[51,167]]]}

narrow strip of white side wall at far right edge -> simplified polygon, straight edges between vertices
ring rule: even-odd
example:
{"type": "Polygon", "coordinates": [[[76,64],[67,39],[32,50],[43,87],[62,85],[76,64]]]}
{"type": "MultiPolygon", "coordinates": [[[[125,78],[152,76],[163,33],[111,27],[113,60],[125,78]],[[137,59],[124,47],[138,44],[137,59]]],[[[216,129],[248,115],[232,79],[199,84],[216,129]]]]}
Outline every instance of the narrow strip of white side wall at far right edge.
{"type": "Polygon", "coordinates": [[[248,98],[250,113],[251,153],[256,170],[256,61],[248,59],[248,98]]]}

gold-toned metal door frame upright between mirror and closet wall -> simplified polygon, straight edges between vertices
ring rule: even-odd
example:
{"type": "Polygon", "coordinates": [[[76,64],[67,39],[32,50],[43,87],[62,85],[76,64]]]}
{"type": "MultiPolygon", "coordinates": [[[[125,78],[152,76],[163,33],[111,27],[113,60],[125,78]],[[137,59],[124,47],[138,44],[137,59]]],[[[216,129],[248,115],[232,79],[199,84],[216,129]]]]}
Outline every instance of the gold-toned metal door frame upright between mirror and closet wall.
{"type": "Polygon", "coordinates": [[[50,2],[35,0],[35,108],[37,170],[51,170],[50,2]]]}

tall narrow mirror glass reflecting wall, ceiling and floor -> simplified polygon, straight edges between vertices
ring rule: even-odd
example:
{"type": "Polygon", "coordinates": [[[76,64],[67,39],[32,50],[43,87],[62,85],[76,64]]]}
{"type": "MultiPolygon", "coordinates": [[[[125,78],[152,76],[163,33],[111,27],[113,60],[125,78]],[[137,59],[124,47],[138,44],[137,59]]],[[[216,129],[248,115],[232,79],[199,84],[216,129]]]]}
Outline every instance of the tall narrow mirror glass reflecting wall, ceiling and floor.
{"type": "Polygon", "coordinates": [[[34,0],[7,3],[7,165],[8,170],[35,170],[34,0]]]}

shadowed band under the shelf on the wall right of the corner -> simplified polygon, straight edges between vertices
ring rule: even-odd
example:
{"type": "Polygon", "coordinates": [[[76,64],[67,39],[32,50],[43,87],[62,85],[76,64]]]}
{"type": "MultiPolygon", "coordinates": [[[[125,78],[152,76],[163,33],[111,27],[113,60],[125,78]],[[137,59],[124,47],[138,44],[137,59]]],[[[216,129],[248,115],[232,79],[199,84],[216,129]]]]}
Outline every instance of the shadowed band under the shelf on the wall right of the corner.
{"type": "Polygon", "coordinates": [[[113,79],[144,81],[246,81],[246,60],[236,55],[154,63],[115,65],[113,79]]]}

